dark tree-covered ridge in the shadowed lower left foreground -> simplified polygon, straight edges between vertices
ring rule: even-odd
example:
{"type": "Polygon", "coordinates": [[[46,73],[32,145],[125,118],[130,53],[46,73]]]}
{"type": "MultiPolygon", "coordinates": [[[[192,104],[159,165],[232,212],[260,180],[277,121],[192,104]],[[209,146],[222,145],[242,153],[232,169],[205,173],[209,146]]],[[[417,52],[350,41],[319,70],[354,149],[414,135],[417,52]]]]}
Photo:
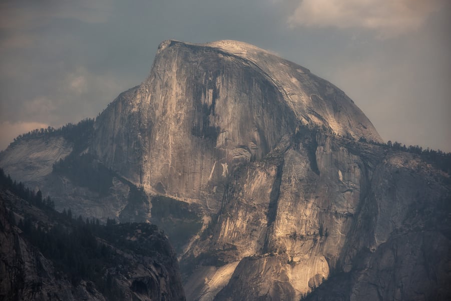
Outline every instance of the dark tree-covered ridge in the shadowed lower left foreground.
{"type": "Polygon", "coordinates": [[[155,225],[85,222],[52,204],[0,169],[2,300],[185,300],[155,225]]]}

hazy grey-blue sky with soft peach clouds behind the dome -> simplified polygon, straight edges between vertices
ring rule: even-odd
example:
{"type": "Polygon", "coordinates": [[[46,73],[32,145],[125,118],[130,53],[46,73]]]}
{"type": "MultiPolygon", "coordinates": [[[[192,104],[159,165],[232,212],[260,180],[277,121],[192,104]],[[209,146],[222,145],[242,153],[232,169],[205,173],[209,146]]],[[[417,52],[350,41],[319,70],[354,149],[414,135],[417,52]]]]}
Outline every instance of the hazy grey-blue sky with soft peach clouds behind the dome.
{"type": "Polygon", "coordinates": [[[94,118],[158,45],[238,40],[343,90],[382,139],[451,152],[449,0],[2,0],[0,150],[94,118]]]}

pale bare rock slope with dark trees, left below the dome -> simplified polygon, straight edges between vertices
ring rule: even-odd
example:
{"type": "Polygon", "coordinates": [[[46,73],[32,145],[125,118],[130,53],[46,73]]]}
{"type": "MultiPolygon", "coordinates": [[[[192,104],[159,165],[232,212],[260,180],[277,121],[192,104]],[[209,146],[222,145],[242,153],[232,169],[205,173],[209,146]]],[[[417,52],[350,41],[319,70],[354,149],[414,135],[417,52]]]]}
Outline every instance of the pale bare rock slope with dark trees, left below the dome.
{"type": "Polygon", "coordinates": [[[146,203],[141,204],[134,193],[136,185],[86,155],[89,143],[87,139],[82,147],[74,147],[74,142],[60,133],[25,137],[0,153],[1,167],[31,189],[42,189],[51,195],[59,211],[71,208],[77,216],[96,217],[104,222],[108,217],[148,221],[147,197],[146,203]],[[61,160],[65,164],[55,169],[54,164],[61,160]]]}

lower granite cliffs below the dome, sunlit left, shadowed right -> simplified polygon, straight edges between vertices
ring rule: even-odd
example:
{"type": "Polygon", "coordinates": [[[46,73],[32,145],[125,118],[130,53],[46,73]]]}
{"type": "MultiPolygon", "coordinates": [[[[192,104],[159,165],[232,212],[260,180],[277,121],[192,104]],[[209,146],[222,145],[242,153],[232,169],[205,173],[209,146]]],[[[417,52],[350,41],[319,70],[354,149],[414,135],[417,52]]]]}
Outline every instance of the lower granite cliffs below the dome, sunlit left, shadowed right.
{"type": "Polygon", "coordinates": [[[449,175],[416,155],[306,130],[237,178],[188,253],[188,299],[451,295],[449,175]]]}

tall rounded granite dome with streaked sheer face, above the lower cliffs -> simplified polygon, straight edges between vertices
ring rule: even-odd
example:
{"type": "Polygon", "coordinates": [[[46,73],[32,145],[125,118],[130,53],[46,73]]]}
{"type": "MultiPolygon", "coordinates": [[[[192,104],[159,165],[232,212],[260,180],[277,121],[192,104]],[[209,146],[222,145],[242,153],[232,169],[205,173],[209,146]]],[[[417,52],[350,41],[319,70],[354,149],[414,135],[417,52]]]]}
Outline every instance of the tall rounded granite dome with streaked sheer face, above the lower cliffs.
{"type": "Polygon", "coordinates": [[[218,209],[235,168],[299,124],[380,141],[342,91],[305,68],[240,42],[166,41],[149,78],[97,119],[92,149],[146,188],[218,209]]]}

